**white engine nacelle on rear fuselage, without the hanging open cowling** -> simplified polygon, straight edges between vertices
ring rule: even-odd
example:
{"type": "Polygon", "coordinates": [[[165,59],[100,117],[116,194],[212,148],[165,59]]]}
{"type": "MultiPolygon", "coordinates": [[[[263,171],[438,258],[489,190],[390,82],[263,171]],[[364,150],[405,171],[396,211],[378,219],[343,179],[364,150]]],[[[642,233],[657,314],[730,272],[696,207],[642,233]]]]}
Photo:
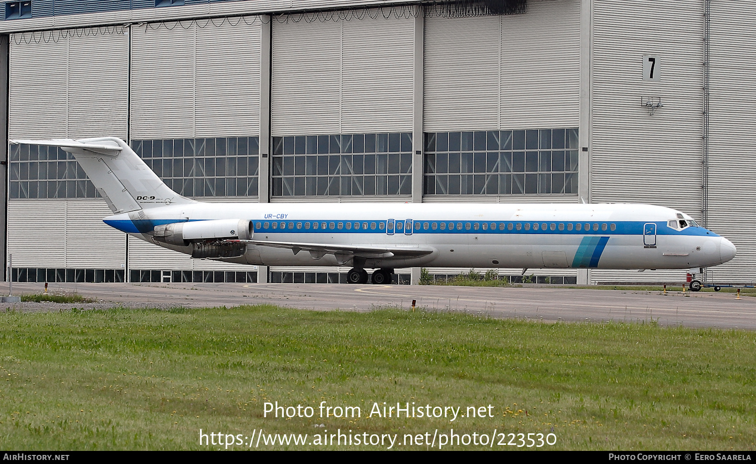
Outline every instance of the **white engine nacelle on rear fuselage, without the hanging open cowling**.
{"type": "Polygon", "coordinates": [[[206,241],[251,240],[254,229],[250,220],[223,219],[164,224],[156,226],[151,235],[156,241],[187,247],[206,241]]]}

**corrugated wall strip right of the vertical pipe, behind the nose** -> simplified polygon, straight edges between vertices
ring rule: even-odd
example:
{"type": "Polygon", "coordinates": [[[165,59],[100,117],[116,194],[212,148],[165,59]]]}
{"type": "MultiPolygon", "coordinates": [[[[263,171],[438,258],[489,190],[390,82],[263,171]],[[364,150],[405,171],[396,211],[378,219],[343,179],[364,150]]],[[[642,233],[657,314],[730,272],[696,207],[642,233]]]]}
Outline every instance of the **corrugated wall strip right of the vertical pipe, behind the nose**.
{"type": "Polygon", "coordinates": [[[711,2],[708,226],[738,247],[717,281],[756,280],[756,4],[711,2]]]}

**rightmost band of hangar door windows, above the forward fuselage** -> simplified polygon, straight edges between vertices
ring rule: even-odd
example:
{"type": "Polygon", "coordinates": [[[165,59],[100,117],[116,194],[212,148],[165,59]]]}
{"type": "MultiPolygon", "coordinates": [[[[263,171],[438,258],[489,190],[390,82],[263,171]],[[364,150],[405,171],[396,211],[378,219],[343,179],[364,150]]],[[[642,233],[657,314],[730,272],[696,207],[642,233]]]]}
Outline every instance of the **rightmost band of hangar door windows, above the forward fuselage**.
{"type": "Polygon", "coordinates": [[[578,129],[425,134],[423,195],[574,194],[578,129]]]}

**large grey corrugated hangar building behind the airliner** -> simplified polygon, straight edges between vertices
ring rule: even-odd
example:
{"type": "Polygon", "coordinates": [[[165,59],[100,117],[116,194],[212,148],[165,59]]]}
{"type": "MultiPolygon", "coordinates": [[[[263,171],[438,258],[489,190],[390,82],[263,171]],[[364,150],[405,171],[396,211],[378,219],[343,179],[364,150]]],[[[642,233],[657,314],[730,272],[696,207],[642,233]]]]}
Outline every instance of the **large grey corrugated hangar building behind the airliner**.
{"type": "MultiPolygon", "coordinates": [[[[206,201],[661,204],[738,247],[708,278],[752,281],[754,20],[746,0],[6,1],[0,137],[121,137],[206,201]]],[[[73,158],[7,147],[0,230],[16,280],[347,270],[254,269],[129,239],[102,223],[110,210],[73,158]]]]}

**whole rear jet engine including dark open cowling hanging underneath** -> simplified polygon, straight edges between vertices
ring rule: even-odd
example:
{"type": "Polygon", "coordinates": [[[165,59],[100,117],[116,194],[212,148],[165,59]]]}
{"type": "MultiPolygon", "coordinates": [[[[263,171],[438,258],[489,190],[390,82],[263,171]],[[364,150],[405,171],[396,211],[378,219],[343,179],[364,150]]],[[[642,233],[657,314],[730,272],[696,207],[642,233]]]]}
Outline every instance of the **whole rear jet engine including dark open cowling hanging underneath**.
{"type": "Polygon", "coordinates": [[[246,244],[229,240],[251,240],[254,229],[250,220],[204,220],[156,226],[150,235],[165,244],[191,246],[193,258],[233,258],[244,254],[246,244]]]}

